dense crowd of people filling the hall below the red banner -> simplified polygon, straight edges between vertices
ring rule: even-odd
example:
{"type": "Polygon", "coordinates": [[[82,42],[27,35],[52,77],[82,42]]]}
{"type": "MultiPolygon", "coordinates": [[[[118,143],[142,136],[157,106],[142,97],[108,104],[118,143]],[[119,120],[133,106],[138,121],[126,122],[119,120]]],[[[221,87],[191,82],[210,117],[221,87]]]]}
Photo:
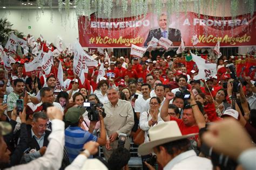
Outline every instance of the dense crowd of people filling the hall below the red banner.
{"type": "Polygon", "coordinates": [[[83,84],[68,48],[49,75],[26,74],[30,53],[16,54],[10,70],[0,65],[1,169],[129,169],[136,138],[143,169],[256,168],[255,75],[236,77],[231,58],[218,59],[217,75],[194,80],[197,67],[187,72],[171,56],[87,53],[99,65],[83,84]]]}

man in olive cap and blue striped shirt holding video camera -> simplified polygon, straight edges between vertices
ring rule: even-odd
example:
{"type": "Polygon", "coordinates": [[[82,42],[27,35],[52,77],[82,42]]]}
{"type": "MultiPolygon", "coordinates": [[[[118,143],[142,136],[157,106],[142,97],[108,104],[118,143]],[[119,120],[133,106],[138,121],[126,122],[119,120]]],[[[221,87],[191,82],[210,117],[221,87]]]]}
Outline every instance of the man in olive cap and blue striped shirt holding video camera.
{"type": "Polygon", "coordinates": [[[104,118],[102,117],[102,110],[100,110],[100,137],[94,136],[92,133],[97,121],[91,121],[89,131],[81,128],[84,122],[83,114],[84,107],[72,107],[65,114],[65,121],[69,127],[65,130],[65,146],[69,155],[69,160],[72,162],[82,150],[83,145],[88,141],[97,141],[99,145],[106,144],[106,130],[104,128],[104,118]]]}

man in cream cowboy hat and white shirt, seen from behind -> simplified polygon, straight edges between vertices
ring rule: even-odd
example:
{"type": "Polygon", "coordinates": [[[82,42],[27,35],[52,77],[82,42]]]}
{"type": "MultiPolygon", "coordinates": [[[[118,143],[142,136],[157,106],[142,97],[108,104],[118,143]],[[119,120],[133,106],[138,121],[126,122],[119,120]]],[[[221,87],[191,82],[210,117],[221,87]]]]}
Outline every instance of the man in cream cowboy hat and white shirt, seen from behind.
{"type": "MultiPolygon", "coordinates": [[[[149,143],[139,146],[138,153],[147,155],[154,152],[157,161],[164,170],[169,169],[212,169],[210,159],[198,157],[196,152],[189,150],[187,138],[197,133],[183,135],[176,122],[158,124],[149,130],[149,143]]],[[[148,167],[152,168],[149,164],[148,167]]]]}

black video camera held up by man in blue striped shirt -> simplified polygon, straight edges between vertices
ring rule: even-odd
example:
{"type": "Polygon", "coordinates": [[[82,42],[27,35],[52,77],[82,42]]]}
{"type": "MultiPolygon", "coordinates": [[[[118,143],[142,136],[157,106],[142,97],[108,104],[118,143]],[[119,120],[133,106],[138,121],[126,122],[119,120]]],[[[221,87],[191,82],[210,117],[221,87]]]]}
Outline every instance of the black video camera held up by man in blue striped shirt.
{"type": "Polygon", "coordinates": [[[103,104],[101,103],[84,102],[83,106],[86,107],[86,110],[88,112],[88,119],[90,121],[99,121],[99,111],[96,108],[102,109],[103,110],[102,116],[106,117],[103,104]]]}

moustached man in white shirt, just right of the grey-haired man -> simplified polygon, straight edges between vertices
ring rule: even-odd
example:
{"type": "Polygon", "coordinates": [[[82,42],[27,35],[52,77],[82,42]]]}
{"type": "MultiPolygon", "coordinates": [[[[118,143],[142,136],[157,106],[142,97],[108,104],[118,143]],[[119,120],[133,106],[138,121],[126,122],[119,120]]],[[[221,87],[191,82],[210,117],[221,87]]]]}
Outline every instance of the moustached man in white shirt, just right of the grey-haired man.
{"type": "Polygon", "coordinates": [[[139,119],[140,113],[142,113],[142,110],[144,110],[143,108],[146,107],[147,99],[150,98],[150,89],[151,89],[150,84],[147,84],[147,83],[142,84],[143,97],[140,97],[135,101],[134,111],[136,112],[136,116],[138,117],[138,119],[139,119]]]}

